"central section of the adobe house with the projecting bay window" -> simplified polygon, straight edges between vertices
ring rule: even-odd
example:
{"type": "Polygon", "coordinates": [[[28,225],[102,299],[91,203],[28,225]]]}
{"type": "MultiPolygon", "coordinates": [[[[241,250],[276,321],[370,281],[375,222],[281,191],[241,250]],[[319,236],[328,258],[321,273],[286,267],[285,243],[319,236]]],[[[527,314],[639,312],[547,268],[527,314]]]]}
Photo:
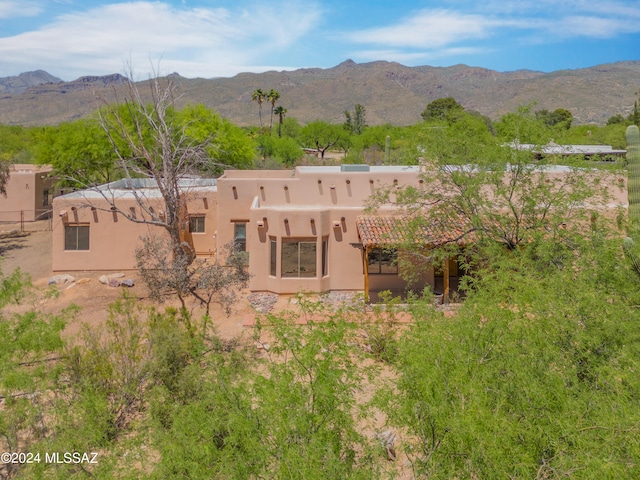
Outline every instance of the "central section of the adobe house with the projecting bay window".
{"type": "MultiPolygon", "coordinates": [[[[365,248],[359,219],[376,189],[418,186],[418,173],[417,166],[368,165],[225,171],[218,179],[218,245],[246,238],[252,291],[402,292],[397,254],[386,244],[365,248]]],[[[393,213],[383,207],[377,215],[393,213]]],[[[433,271],[424,282],[434,284],[433,271]]]]}

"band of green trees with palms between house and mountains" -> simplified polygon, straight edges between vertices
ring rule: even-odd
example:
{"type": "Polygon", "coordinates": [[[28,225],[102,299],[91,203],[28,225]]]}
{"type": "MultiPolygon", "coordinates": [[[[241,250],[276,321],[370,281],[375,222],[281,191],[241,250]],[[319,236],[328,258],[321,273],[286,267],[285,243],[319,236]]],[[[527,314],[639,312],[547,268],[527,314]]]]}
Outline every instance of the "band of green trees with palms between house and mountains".
{"type": "MultiPolygon", "coordinates": [[[[428,129],[448,127],[462,117],[472,116],[484,123],[496,141],[512,141],[504,124],[517,112],[506,114],[492,121],[472,111],[465,110],[451,97],[429,103],[422,113],[422,121],[406,127],[391,124],[369,126],[366,106],[354,105],[345,110],[341,124],[316,120],[301,125],[279,105],[280,93],[274,89],[256,89],[252,94],[258,106],[256,127],[238,127],[222,118],[215,111],[202,105],[189,105],[176,111],[172,121],[188,127],[194,141],[208,142],[210,167],[203,173],[217,175],[223,168],[283,168],[301,161],[307,152],[314,151],[323,158],[329,150],[336,150],[353,163],[415,163],[417,139],[428,129]],[[269,106],[269,124],[263,125],[263,104],[269,106]],[[277,135],[273,133],[277,119],[277,135]],[[502,125],[502,127],[501,127],[502,125]],[[384,155],[390,139],[390,150],[384,155]]],[[[539,124],[538,134],[518,132],[522,143],[540,143],[543,137],[561,144],[608,144],[625,148],[624,130],[633,121],[631,117],[611,117],[605,126],[574,125],[571,113],[563,108],[554,111],[535,110],[535,105],[523,107],[539,124]]],[[[465,120],[466,121],[466,120],[465,120]]],[[[639,122],[640,123],[640,122],[639,122]]],[[[442,131],[442,130],[439,130],[442,131]]],[[[62,172],[83,171],[95,182],[108,182],[117,178],[114,171],[113,152],[97,115],[93,118],[62,123],[57,126],[21,127],[0,125],[0,162],[52,163],[62,172]]]]}

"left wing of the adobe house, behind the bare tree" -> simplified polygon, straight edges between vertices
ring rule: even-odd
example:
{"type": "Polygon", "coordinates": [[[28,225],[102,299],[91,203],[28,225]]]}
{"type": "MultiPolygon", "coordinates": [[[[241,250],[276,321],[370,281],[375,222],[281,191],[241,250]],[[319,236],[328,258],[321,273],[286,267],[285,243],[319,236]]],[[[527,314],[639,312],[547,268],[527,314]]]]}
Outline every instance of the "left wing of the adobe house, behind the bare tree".
{"type": "MultiPolygon", "coordinates": [[[[135,250],[142,245],[140,237],[166,234],[162,227],[145,223],[154,215],[163,218],[159,190],[147,179],[133,181],[134,185],[129,185],[126,180],[118,180],[95,190],[81,190],[54,199],[54,272],[135,269],[135,250]],[[111,208],[114,204],[130,218],[114,211],[111,208]]],[[[213,257],[216,180],[184,179],[181,183],[187,200],[184,239],[196,255],[213,257]]]]}

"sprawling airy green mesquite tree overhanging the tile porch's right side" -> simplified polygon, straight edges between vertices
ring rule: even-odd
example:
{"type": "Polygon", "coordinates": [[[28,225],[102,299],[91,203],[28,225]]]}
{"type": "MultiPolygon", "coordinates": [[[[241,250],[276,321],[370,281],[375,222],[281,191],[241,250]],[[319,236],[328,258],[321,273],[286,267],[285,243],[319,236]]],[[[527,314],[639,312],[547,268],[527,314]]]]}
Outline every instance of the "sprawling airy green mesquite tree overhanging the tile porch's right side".
{"type": "Polygon", "coordinates": [[[594,210],[606,204],[615,179],[606,172],[549,168],[530,152],[496,144],[488,132],[461,129],[474,125],[465,115],[426,137],[421,183],[388,185],[370,199],[374,210],[393,205],[402,218],[403,237],[394,242],[403,252],[403,276],[413,280],[460,252],[468,262],[484,262],[496,247],[533,251],[543,245],[536,254],[541,268],[561,268],[575,238],[590,233],[594,210]]]}

